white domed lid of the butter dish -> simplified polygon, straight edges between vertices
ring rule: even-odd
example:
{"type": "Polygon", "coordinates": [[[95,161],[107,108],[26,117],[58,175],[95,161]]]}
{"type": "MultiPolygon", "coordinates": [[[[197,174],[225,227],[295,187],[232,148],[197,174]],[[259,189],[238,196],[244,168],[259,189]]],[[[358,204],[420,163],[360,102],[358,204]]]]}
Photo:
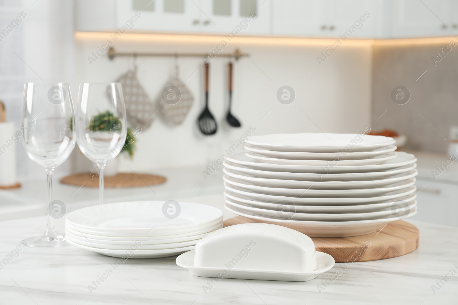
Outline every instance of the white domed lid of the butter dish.
{"type": "Polygon", "coordinates": [[[217,230],[196,243],[194,266],[281,272],[316,269],[315,244],[305,234],[251,223],[217,230]]]}

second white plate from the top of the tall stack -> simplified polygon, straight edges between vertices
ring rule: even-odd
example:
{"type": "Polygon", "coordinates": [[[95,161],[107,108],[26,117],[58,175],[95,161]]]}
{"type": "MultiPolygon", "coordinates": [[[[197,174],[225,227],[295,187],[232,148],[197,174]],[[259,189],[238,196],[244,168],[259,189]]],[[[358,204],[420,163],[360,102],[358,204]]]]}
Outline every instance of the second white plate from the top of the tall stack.
{"type": "Polygon", "coordinates": [[[371,159],[378,155],[385,155],[396,150],[396,146],[390,145],[378,150],[372,151],[358,151],[358,152],[332,152],[332,153],[314,153],[314,152],[290,152],[290,151],[276,151],[276,150],[263,150],[252,145],[245,145],[245,150],[251,151],[258,155],[263,155],[270,158],[289,159],[289,160],[358,160],[358,159],[371,159]]]}

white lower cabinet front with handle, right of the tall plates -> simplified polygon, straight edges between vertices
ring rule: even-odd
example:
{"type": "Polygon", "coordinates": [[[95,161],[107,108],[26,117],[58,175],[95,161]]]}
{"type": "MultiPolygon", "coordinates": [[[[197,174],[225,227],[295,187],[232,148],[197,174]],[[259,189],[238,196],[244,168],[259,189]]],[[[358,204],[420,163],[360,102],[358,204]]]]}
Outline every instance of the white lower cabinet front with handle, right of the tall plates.
{"type": "Polygon", "coordinates": [[[418,213],[412,220],[458,227],[458,184],[417,178],[418,213]]]}

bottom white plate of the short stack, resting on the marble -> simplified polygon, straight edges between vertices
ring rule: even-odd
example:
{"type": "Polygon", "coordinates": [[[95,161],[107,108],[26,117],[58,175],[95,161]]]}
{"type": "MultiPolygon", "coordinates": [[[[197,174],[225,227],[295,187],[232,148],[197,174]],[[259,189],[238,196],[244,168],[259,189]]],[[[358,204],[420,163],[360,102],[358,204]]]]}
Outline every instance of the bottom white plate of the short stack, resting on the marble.
{"type": "Polygon", "coordinates": [[[111,257],[129,257],[129,258],[159,258],[159,257],[169,257],[181,254],[186,251],[193,250],[195,246],[183,247],[183,248],[174,248],[174,249],[160,249],[160,250],[110,250],[110,249],[98,249],[95,247],[88,247],[77,244],[71,240],[68,240],[68,243],[77,246],[83,250],[97,252],[111,257]],[[131,253],[133,256],[131,257],[131,253]]]}

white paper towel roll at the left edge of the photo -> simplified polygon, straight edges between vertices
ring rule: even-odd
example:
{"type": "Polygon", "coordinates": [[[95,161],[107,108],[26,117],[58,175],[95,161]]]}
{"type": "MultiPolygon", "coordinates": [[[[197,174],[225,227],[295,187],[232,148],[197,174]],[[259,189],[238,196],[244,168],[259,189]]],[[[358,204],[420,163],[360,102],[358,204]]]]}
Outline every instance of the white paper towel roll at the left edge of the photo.
{"type": "Polygon", "coordinates": [[[0,122],[0,186],[16,183],[16,145],[21,138],[17,136],[14,124],[0,122]]]}

